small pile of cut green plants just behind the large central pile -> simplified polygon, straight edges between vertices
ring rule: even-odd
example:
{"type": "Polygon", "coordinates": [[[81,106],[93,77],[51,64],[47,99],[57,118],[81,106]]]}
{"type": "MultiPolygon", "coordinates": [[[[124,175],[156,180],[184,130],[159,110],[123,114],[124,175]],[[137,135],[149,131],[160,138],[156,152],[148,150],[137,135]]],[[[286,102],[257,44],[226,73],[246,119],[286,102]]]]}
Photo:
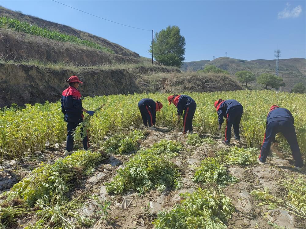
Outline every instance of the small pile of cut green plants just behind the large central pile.
{"type": "Polygon", "coordinates": [[[154,143],[150,148],[139,151],[139,153],[148,153],[155,156],[164,156],[166,159],[176,157],[183,149],[182,144],[179,141],[161,140],[154,143]]]}

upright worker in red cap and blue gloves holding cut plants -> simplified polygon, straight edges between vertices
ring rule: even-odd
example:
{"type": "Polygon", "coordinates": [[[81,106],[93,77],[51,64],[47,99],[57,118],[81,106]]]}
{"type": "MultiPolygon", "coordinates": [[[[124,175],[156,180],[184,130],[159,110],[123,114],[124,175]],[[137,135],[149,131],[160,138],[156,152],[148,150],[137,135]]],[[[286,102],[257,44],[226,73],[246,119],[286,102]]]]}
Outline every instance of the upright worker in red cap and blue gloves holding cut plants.
{"type": "MultiPolygon", "coordinates": [[[[69,83],[69,87],[65,89],[62,93],[62,113],[64,114],[64,120],[67,122],[67,142],[66,142],[66,151],[65,156],[72,154],[73,149],[73,132],[76,127],[82,122],[84,115],[83,112],[86,112],[88,115],[94,115],[94,111],[87,111],[82,107],[82,98],[79,90],[77,89],[80,84],[83,84],[73,75],[65,81],[69,83]]],[[[88,136],[83,139],[83,148],[88,149],[88,136]]]]}

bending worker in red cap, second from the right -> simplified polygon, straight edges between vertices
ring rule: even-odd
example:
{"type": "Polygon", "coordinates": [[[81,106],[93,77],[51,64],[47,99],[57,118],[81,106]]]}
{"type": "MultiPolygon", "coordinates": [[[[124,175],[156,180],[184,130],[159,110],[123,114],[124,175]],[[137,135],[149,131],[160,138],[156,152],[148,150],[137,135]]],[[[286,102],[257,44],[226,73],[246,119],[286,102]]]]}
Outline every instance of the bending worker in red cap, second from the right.
{"type": "Polygon", "coordinates": [[[232,126],[235,133],[235,140],[240,141],[239,125],[243,114],[243,107],[237,100],[222,100],[215,101],[215,108],[218,113],[219,130],[224,122],[223,117],[226,118],[225,141],[222,143],[230,144],[232,137],[232,126]]]}

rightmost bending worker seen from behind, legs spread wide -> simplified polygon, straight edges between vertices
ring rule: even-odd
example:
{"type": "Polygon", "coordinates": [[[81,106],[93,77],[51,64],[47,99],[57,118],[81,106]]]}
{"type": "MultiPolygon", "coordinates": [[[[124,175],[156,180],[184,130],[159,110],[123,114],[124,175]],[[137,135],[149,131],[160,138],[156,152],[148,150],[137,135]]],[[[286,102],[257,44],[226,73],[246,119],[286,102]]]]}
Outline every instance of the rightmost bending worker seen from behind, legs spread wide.
{"type": "Polygon", "coordinates": [[[299,171],[303,169],[303,160],[293,124],[294,119],[290,111],[285,108],[280,108],[277,105],[273,105],[270,108],[266,122],[266,133],[258,158],[260,163],[266,162],[271,142],[275,142],[275,135],[281,132],[290,145],[293,159],[295,161],[295,169],[299,171]]]}

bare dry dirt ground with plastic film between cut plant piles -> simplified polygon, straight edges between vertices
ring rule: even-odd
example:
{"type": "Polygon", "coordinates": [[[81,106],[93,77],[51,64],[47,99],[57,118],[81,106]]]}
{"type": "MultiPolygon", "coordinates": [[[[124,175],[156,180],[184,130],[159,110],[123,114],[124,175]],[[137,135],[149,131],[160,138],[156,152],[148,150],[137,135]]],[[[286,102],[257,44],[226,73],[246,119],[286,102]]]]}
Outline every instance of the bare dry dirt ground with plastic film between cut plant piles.
{"type": "MultiPolygon", "coordinates": [[[[200,161],[206,157],[214,157],[215,152],[228,146],[221,144],[220,139],[215,138],[215,144],[204,144],[200,147],[194,147],[186,144],[187,137],[177,134],[178,130],[169,130],[160,127],[156,131],[147,131],[147,136],[140,143],[140,148],[150,147],[151,144],[161,139],[178,140],[184,145],[181,153],[171,159],[181,171],[183,177],[183,187],[180,190],[166,190],[159,193],[151,190],[148,193],[138,195],[138,193],[130,191],[122,195],[107,194],[105,191],[105,183],[110,182],[116,175],[116,170],[128,161],[132,154],[112,155],[109,160],[101,164],[95,173],[82,180],[82,184],[69,193],[70,198],[76,198],[80,194],[86,194],[87,202],[80,212],[84,215],[96,218],[96,223],[91,229],[144,229],[154,228],[152,221],[156,218],[156,214],[160,210],[170,210],[175,204],[179,203],[180,193],[193,192],[199,184],[192,181],[195,167],[200,161]],[[113,165],[110,165],[114,162],[113,165]],[[116,165],[117,164],[117,165],[116,165]],[[104,200],[110,201],[111,206],[108,212],[108,219],[104,220],[101,211],[101,203],[104,200]],[[100,206],[99,206],[100,205],[100,206]],[[97,217],[98,215],[98,217],[97,217]]],[[[206,138],[209,135],[200,135],[206,138]]],[[[14,183],[30,172],[31,169],[39,166],[40,161],[53,163],[58,157],[62,157],[64,146],[48,149],[46,152],[38,153],[35,158],[28,158],[26,162],[17,163],[14,161],[6,161],[0,172],[0,189],[8,190],[14,183]]],[[[240,147],[246,147],[242,142],[240,147]]],[[[259,152],[259,151],[258,151],[259,152]]],[[[288,176],[305,176],[305,172],[297,172],[293,170],[293,159],[291,154],[280,153],[272,148],[272,155],[268,158],[266,165],[250,165],[250,166],[232,166],[229,172],[239,178],[239,182],[232,184],[223,189],[224,193],[230,197],[235,206],[235,212],[227,223],[228,228],[273,228],[267,222],[277,223],[285,228],[306,228],[306,223],[300,218],[290,215],[282,209],[270,210],[270,214],[266,217],[268,211],[267,205],[259,206],[250,191],[255,189],[263,190],[263,187],[269,187],[274,194],[282,195],[284,190],[278,186],[277,179],[286,179],[288,176]]],[[[28,216],[20,220],[20,225],[12,228],[23,228],[23,224],[33,222],[35,219],[28,216]]]]}

